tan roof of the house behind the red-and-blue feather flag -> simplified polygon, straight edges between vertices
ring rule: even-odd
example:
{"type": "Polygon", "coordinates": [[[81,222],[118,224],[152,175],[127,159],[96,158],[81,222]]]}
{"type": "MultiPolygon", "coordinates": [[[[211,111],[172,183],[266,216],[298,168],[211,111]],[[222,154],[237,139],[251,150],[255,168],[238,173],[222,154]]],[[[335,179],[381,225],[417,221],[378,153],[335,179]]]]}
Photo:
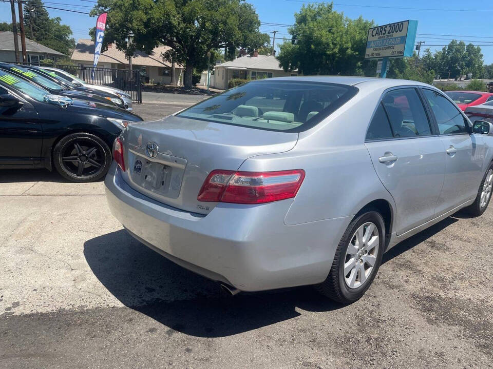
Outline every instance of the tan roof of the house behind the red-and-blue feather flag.
{"type": "MultiPolygon", "coordinates": [[[[161,58],[161,53],[169,50],[169,47],[160,45],[156,47],[150,54],[146,54],[142,51],[137,51],[134,58],[132,58],[132,64],[148,67],[169,67],[169,64],[165,63],[161,58]]],[[[72,53],[72,60],[93,61],[94,58],[94,42],[90,39],[81,38],[75,50],[72,53]]],[[[118,50],[115,45],[108,45],[108,50],[101,53],[99,57],[101,63],[120,63],[127,64],[128,59],[125,58],[125,54],[118,50]]],[[[176,68],[182,68],[181,65],[176,65],[176,68]]]]}

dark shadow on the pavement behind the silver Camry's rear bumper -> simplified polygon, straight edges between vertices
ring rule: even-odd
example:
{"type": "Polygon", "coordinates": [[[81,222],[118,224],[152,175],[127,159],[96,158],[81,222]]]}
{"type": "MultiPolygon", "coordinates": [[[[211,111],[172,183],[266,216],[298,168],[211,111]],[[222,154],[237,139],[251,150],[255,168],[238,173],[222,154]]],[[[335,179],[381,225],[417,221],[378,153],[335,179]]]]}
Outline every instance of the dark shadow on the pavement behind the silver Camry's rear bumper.
{"type": "Polygon", "coordinates": [[[84,243],[84,256],[105,288],[124,305],[178,331],[224,337],[299,316],[295,308],[343,308],[310,286],[226,295],[219,284],[189,272],[120,230],[84,243]]]}

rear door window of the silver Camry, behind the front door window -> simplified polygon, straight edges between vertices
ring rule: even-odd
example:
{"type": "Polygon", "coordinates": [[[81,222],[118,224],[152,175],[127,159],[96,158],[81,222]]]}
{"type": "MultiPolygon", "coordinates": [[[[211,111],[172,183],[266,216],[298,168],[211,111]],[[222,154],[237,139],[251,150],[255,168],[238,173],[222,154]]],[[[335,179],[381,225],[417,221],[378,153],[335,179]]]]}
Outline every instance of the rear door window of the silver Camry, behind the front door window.
{"type": "Polygon", "coordinates": [[[415,89],[406,88],[387,92],[382,104],[395,138],[431,134],[428,116],[415,89]]]}

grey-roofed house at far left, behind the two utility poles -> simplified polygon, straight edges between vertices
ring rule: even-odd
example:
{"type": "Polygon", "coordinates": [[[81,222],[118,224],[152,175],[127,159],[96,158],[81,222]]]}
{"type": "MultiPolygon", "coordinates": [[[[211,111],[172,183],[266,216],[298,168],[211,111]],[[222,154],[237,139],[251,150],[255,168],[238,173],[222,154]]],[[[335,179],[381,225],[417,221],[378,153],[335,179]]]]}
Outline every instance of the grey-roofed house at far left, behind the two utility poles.
{"type": "MultiPolygon", "coordinates": [[[[19,45],[19,53],[21,53],[21,36],[17,34],[17,44],[19,45]]],[[[11,31],[0,32],[0,61],[15,62],[14,51],[14,33],[11,31]]],[[[44,45],[26,37],[26,54],[27,61],[32,64],[39,64],[40,60],[51,59],[56,60],[65,56],[61,52],[50,49],[44,45]]],[[[21,55],[22,60],[22,55],[21,55]]]]}

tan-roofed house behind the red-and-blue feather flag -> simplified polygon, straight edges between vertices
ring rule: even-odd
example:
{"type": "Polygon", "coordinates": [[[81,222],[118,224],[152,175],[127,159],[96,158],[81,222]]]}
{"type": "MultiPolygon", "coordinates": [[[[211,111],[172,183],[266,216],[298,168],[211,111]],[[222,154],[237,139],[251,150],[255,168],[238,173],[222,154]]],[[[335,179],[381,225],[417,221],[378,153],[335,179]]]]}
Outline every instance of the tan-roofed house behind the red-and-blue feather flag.
{"type": "MultiPolygon", "coordinates": [[[[164,85],[171,83],[171,64],[163,61],[161,53],[168,50],[169,47],[160,45],[156,47],[150,54],[142,51],[137,51],[132,58],[132,69],[140,69],[142,75],[148,82],[157,84],[158,82],[164,85]]],[[[92,67],[94,59],[94,42],[90,39],[81,38],[73,50],[71,59],[73,63],[83,66],[92,67]]],[[[108,50],[101,53],[98,60],[98,67],[113,68],[113,69],[128,69],[128,59],[125,54],[118,50],[115,45],[109,44],[108,50]]],[[[183,80],[183,67],[175,64],[175,81],[181,85],[183,80]]]]}

